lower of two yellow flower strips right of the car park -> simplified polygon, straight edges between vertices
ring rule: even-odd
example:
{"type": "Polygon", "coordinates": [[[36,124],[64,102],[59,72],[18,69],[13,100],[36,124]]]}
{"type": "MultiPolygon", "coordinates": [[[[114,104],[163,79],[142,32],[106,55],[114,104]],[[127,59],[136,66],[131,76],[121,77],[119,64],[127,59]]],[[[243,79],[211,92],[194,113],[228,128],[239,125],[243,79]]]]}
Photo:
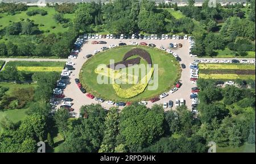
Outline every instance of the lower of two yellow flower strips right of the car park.
{"type": "Polygon", "coordinates": [[[254,79],[255,75],[246,74],[200,74],[200,78],[204,79],[254,79]]]}

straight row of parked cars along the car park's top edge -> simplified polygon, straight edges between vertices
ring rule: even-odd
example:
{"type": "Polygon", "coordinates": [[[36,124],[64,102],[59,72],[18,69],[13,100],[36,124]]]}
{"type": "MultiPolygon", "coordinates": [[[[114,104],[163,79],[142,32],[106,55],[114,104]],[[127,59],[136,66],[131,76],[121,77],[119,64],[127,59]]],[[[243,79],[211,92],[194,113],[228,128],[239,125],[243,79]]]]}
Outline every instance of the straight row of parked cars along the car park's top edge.
{"type": "Polygon", "coordinates": [[[144,40],[165,40],[165,39],[188,39],[187,35],[179,36],[179,35],[166,35],[162,34],[160,36],[156,34],[151,35],[143,35],[138,33],[133,33],[132,35],[125,35],[125,34],[108,34],[108,35],[101,35],[101,34],[85,34],[84,39],[144,39],[144,40]]]}

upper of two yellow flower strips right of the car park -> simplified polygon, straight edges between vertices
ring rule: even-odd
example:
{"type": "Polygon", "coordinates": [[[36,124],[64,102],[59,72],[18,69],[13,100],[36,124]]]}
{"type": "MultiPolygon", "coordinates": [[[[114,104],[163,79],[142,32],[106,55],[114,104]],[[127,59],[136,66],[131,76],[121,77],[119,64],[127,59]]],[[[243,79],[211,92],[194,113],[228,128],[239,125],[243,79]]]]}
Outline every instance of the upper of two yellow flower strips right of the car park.
{"type": "Polygon", "coordinates": [[[254,64],[199,64],[199,69],[245,69],[255,70],[254,64]]]}

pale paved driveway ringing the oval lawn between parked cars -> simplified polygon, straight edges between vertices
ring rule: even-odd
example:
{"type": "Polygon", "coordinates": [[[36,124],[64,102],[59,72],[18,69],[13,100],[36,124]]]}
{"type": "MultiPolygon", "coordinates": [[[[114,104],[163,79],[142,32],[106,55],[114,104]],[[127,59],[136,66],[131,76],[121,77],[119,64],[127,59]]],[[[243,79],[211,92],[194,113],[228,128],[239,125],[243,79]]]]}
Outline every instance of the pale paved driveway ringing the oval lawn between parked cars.
{"type": "MultiPolygon", "coordinates": [[[[79,56],[77,59],[72,59],[72,62],[75,62],[75,68],[76,70],[73,71],[71,77],[70,77],[70,84],[67,86],[67,88],[64,90],[64,94],[66,97],[70,97],[74,99],[74,104],[73,104],[73,108],[75,108],[75,112],[79,113],[79,109],[81,106],[85,105],[85,104],[92,104],[92,103],[98,103],[96,100],[94,99],[89,99],[85,96],[85,94],[82,94],[82,92],[79,90],[79,88],[77,87],[76,83],[75,83],[75,78],[79,78],[79,73],[80,73],[80,69],[82,67],[82,65],[84,64],[84,62],[86,61],[86,59],[84,58],[84,56],[86,54],[92,54],[94,50],[100,50],[101,47],[106,46],[108,47],[110,44],[116,44],[118,45],[118,43],[123,42],[126,44],[130,44],[132,41],[135,41],[137,43],[139,42],[146,42],[146,43],[154,43],[156,45],[156,47],[160,47],[161,45],[163,45],[164,47],[168,48],[170,43],[181,43],[183,44],[182,48],[176,48],[176,49],[172,49],[175,53],[177,53],[180,58],[181,58],[181,63],[185,64],[187,67],[185,69],[183,69],[182,73],[181,73],[181,78],[180,81],[181,83],[183,83],[183,85],[181,86],[181,88],[176,91],[174,94],[170,94],[163,99],[160,99],[158,102],[158,104],[163,104],[164,102],[168,102],[169,100],[173,100],[175,101],[175,99],[181,99],[183,98],[186,101],[186,104],[188,106],[188,108],[191,108],[191,100],[189,98],[189,95],[191,94],[191,88],[195,87],[195,84],[192,84],[191,81],[189,81],[190,78],[190,69],[189,69],[189,64],[191,64],[193,62],[193,60],[195,59],[202,59],[202,58],[192,58],[189,56],[189,42],[188,40],[137,40],[137,39],[127,39],[127,40],[117,40],[117,39],[100,39],[102,41],[107,41],[108,44],[106,45],[99,45],[99,44],[91,44],[91,41],[93,40],[88,40],[87,43],[84,44],[84,46],[81,49],[81,52],[79,53],[79,56]]],[[[96,54],[96,55],[100,55],[100,54],[96,54]]],[[[213,58],[210,58],[210,60],[212,60],[213,58]]],[[[224,58],[219,58],[218,60],[223,60],[224,58]]],[[[232,60],[233,58],[228,58],[228,60],[232,60]]],[[[238,58],[238,60],[241,60],[241,58],[238,58]]],[[[252,61],[253,59],[248,59],[250,61],[252,61]]],[[[106,109],[109,109],[110,105],[104,103],[101,103],[101,105],[103,107],[105,107],[106,109]]],[[[153,103],[148,102],[147,107],[151,107],[153,105],[153,103]]],[[[120,107],[122,109],[122,107],[120,107]]],[[[168,108],[167,110],[170,110],[170,108],[168,108]]]]}

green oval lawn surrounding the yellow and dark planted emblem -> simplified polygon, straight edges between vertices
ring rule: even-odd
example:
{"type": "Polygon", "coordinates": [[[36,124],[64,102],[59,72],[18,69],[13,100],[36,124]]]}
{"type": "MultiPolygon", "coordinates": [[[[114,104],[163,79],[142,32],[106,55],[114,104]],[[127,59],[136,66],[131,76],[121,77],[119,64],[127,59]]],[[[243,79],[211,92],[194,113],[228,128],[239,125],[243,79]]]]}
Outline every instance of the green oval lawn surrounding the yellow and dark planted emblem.
{"type": "MultiPolygon", "coordinates": [[[[102,52],[93,56],[84,64],[82,72],[80,72],[80,81],[85,86],[88,92],[94,95],[100,96],[106,100],[114,101],[139,101],[142,99],[150,99],[154,96],[158,96],[164,91],[168,91],[170,87],[174,86],[177,79],[180,77],[180,66],[173,56],[167,54],[164,51],[160,51],[156,48],[140,47],[145,49],[151,55],[152,64],[158,64],[158,88],[156,90],[148,90],[148,87],[144,92],[130,99],[121,99],[115,94],[112,84],[98,84],[97,75],[94,70],[100,64],[109,64],[109,60],[113,59],[115,62],[122,61],[124,54],[130,51],[133,46],[118,47],[106,52],[102,52]]],[[[141,63],[146,63],[141,59],[141,63]]],[[[139,78],[141,79],[141,78],[139,78]]],[[[131,85],[121,85],[122,88],[129,88],[131,85]]]]}

